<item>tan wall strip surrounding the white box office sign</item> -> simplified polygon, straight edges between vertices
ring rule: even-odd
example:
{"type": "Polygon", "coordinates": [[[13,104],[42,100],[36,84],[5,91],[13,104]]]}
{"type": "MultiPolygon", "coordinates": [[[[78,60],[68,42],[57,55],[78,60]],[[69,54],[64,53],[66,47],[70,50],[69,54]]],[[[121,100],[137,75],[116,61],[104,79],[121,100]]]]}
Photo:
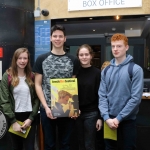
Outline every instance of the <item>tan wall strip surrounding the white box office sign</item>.
{"type": "MultiPolygon", "coordinates": [[[[35,8],[37,8],[38,0],[35,1],[35,8]]],[[[138,15],[150,14],[150,0],[143,0],[142,7],[126,8],[126,9],[101,9],[101,10],[86,10],[86,11],[68,11],[68,0],[42,0],[40,1],[40,8],[49,10],[48,17],[37,18],[37,20],[44,19],[58,19],[58,18],[77,18],[89,16],[114,16],[114,15],[138,15]]]]}

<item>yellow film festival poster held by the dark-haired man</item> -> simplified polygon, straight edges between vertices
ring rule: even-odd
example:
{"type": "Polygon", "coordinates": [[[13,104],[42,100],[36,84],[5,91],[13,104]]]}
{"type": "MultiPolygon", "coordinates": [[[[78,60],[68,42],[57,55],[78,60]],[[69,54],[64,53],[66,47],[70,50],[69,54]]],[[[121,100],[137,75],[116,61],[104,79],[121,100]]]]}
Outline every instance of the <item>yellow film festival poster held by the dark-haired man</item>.
{"type": "Polygon", "coordinates": [[[77,78],[51,79],[50,85],[53,117],[78,116],[77,78]]]}

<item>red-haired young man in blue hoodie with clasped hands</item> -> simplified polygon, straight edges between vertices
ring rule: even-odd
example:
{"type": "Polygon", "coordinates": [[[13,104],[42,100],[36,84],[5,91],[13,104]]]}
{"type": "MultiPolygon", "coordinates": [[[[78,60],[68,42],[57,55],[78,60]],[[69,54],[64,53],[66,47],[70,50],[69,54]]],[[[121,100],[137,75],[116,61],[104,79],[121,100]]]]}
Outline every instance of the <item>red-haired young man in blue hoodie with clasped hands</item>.
{"type": "MultiPolygon", "coordinates": [[[[114,34],[111,38],[111,47],[114,58],[107,72],[105,68],[101,74],[99,109],[109,128],[121,133],[124,150],[134,150],[136,115],[143,92],[143,70],[134,64],[130,78],[128,68],[133,57],[126,55],[129,46],[125,35],[114,34]]],[[[118,149],[117,141],[105,139],[105,143],[106,150],[118,149]]]]}

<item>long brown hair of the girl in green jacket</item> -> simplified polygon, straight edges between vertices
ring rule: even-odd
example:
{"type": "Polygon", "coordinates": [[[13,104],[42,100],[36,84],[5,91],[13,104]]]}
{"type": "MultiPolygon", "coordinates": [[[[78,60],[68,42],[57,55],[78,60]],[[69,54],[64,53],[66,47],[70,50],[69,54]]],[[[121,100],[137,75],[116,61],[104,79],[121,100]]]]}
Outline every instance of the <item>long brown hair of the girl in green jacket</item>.
{"type": "Polygon", "coordinates": [[[31,65],[30,65],[30,53],[27,48],[18,48],[13,55],[11,66],[9,69],[7,69],[7,73],[11,76],[11,84],[15,87],[19,84],[19,78],[18,78],[18,69],[17,69],[17,60],[22,53],[28,54],[28,63],[24,69],[24,73],[26,74],[26,80],[28,81],[29,85],[34,85],[32,81],[32,71],[31,71],[31,65]]]}

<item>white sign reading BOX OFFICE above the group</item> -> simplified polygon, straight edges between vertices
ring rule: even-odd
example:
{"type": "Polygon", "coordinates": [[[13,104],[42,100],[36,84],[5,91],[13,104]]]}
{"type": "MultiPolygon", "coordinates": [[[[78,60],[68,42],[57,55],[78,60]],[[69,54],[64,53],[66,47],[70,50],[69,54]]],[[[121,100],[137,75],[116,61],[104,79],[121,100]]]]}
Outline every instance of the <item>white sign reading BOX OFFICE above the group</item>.
{"type": "Polygon", "coordinates": [[[142,0],[68,0],[68,11],[142,7],[142,0]]]}

